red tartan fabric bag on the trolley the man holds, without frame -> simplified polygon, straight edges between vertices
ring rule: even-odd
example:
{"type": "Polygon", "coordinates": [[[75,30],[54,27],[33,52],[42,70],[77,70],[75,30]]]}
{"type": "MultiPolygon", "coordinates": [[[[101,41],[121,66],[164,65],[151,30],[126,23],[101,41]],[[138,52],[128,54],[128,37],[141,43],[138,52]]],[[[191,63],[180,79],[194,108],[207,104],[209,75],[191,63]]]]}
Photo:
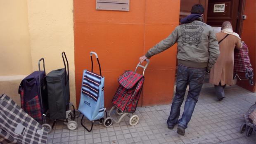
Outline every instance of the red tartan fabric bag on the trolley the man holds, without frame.
{"type": "Polygon", "coordinates": [[[126,71],[118,81],[120,85],[112,103],[123,112],[134,113],[140,99],[144,76],[133,71],[126,71]]]}

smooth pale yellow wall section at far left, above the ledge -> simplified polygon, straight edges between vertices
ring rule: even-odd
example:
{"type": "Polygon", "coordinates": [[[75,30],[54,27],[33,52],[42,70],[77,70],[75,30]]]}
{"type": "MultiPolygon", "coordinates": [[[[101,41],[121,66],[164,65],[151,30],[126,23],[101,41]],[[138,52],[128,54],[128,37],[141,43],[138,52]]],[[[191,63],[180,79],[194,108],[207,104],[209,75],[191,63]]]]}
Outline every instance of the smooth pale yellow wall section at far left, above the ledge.
{"type": "Polygon", "coordinates": [[[26,0],[0,0],[0,76],[32,72],[26,0]]]}

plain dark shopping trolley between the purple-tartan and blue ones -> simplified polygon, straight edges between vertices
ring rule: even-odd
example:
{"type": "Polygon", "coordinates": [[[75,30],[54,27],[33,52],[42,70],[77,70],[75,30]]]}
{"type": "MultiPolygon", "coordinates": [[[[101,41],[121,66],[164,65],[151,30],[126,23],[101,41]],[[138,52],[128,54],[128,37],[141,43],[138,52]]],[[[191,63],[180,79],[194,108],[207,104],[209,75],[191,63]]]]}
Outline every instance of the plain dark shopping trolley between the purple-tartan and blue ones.
{"type": "Polygon", "coordinates": [[[49,114],[50,119],[54,120],[52,127],[54,127],[56,121],[59,120],[64,122],[69,130],[76,130],[78,124],[74,121],[74,118],[79,116],[79,111],[75,110],[73,104],[69,103],[69,62],[65,52],[62,52],[62,59],[64,68],[53,70],[45,76],[49,114]],[[69,110],[71,106],[73,107],[73,112],[69,110]]]}

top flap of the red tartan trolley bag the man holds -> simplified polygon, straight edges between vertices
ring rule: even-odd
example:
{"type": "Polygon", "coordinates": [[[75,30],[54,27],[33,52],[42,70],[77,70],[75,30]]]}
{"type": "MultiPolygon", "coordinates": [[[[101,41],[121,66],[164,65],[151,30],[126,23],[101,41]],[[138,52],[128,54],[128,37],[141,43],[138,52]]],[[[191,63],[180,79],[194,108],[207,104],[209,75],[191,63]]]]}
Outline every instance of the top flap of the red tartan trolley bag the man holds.
{"type": "Polygon", "coordinates": [[[142,76],[133,71],[126,71],[119,77],[118,82],[126,89],[132,88],[142,76]]]}

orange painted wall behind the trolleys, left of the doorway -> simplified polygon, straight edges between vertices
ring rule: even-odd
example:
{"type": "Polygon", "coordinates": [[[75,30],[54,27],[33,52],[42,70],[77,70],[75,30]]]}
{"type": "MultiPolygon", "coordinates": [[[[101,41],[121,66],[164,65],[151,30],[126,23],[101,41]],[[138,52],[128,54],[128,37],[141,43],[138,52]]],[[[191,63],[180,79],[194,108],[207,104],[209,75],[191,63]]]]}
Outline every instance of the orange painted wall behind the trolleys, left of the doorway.
{"type": "MultiPolygon", "coordinates": [[[[130,11],[96,10],[95,0],[74,0],[76,102],[79,104],[89,52],[97,52],[105,77],[105,106],[119,86],[119,76],[134,70],[139,57],[166,38],[179,22],[180,0],[130,0],[130,11]]],[[[176,45],[150,59],[139,106],[169,104],[173,96],[176,45]]],[[[99,73],[94,59],[94,72],[99,73]]]]}

